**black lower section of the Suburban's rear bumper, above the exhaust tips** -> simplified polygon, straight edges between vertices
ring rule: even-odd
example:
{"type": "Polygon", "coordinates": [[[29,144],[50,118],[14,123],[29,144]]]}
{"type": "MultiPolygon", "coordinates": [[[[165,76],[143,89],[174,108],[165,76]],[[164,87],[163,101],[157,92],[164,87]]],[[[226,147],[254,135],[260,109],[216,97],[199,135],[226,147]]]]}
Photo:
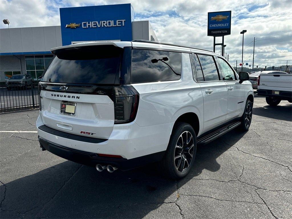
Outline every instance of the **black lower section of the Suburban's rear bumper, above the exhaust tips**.
{"type": "Polygon", "coordinates": [[[126,170],[133,169],[139,166],[144,166],[153,162],[160,161],[162,160],[165,153],[164,151],[162,151],[162,152],[148,154],[148,155],[133,158],[133,159],[103,158],[103,157],[99,157],[98,154],[96,153],[76,150],[69,147],[64,147],[62,145],[57,145],[41,137],[39,137],[39,142],[40,142],[41,147],[64,159],[67,159],[79,164],[84,164],[87,166],[95,166],[96,164],[112,165],[112,166],[118,167],[122,171],[126,171],[126,170]]]}

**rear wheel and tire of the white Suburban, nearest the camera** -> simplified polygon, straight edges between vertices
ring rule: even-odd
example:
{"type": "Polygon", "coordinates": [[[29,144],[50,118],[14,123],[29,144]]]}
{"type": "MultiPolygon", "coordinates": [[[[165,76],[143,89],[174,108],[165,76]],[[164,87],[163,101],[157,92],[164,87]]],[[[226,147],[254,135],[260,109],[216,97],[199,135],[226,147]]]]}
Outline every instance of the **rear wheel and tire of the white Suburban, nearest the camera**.
{"type": "Polygon", "coordinates": [[[197,139],[192,126],[183,122],[175,123],[167,150],[161,161],[166,176],[171,179],[185,177],[194,164],[196,150],[197,139]],[[180,149],[181,147],[182,149],[180,149]]]}

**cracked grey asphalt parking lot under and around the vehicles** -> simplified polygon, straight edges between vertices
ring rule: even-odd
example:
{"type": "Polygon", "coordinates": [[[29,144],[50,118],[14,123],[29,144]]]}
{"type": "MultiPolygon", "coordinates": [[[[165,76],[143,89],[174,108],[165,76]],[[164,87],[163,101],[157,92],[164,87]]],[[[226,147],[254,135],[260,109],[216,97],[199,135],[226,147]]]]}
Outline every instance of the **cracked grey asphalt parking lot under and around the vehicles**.
{"type": "MultiPolygon", "coordinates": [[[[36,131],[38,110],[1,114],[36,131]]],[[[198,147],[173,181],[157,166],[98,172],[42,152],[37,133],[0,132],[1,218],[292,218],[292,104],[255,96],[248,132],[198,147]]]]}

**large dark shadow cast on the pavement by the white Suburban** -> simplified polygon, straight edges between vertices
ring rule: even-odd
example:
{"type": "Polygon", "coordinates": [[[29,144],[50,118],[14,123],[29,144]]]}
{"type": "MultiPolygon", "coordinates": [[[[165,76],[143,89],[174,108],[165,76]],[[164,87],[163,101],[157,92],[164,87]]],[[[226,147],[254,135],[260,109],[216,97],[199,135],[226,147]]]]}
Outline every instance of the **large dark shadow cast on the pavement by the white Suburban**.
{"type": "MultiPolygon", "coordinates": [[[[236,136],[233,145],[245,133],[230,134],[236,136]]],[[[220,138],[199,146],[195,165],[188,179],[180,181],[180,187],[204,169],[218,171],[216,159],[230,147],[220,138]]],[[[100,173],[65,161],[2,185],[1,218],[143,218],[163,203],[170,203],[166,207],[172,212],[179,211],[174,204],[179,183],[164,178],[158,169],[151,165],[133,171],[100,173]]]]}

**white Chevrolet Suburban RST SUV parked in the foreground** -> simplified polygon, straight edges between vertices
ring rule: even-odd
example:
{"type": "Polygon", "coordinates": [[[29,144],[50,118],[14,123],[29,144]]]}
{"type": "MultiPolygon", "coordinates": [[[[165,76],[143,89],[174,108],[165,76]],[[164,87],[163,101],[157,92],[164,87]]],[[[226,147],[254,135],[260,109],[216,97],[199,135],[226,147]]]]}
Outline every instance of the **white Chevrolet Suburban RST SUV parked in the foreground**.
{"type": "Polygon", "coordinates": [[[39,83],[41,149],[98,171],[159,161],[182,178],[198,144],[251,124],[248,73],[211,51],[136,40],[51,52],[39,83]]]}

